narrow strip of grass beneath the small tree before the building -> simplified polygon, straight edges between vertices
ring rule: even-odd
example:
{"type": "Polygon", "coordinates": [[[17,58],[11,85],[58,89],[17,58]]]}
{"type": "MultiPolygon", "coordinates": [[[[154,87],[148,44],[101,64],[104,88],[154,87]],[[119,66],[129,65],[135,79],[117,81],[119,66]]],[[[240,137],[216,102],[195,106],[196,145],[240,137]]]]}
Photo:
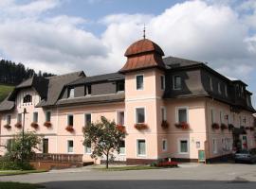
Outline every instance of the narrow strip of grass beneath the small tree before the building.
{"type": "Polygon", "coordinates": [[[103,171],[129,171],[129,170],[147,170],[147,169],[159,169],[162,167],[149,166],[149,165],[137,165],[137,166],[110,166],[108,169],[103,166],[95,167],[96,170],[103,171]]]}

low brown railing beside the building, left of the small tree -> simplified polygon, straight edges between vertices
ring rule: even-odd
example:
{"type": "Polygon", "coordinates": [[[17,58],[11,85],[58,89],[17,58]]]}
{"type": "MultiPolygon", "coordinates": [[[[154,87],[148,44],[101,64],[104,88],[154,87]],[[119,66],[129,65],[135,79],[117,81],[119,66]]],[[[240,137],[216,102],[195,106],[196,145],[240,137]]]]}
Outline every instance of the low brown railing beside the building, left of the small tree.
{"type": "Polygon", "coordinates": [[[37,153],[32,161],[53,161],[63,163],[82,163],[82,154],[37,153]]]}

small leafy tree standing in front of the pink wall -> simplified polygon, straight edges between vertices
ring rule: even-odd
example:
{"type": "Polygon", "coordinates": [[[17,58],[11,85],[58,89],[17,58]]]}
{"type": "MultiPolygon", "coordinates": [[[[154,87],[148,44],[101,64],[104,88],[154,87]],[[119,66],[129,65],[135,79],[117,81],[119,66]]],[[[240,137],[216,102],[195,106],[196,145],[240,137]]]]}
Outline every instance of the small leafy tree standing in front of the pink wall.
{"type": "Polygon", "coordinates": [[[92,146],[92,158],[106,157],[106,168],[110,159],[114,158],[114,151],[119,153],[119,146],[124,140],[126,132],[123,127],[117,127],[114,121],[101,116],[101,122],[91,123],[83,128],[84,146],[92,146]]]}

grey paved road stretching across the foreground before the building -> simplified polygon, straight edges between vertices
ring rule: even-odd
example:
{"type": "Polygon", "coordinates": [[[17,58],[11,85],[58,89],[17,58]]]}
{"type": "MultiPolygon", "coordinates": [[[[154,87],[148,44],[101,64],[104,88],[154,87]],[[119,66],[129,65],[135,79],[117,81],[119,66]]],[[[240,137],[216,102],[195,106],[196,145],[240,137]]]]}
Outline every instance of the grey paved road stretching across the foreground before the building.
{"type": "Polygon", "coordinates": [[[255,189],[256,164],[183,164],[180,168],[138,171],[83,167],[1,177],[1,180],[42,183],[50,189],[255,189]]]}

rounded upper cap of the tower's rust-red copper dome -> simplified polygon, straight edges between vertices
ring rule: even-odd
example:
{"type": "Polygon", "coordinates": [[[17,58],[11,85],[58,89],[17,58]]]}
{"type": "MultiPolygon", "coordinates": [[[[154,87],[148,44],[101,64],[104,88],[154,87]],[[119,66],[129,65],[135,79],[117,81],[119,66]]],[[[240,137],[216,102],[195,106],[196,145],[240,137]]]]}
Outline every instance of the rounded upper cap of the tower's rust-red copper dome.
{"type": "Polygon", "coordinates": [[[158,44],[156,44],[148,39],[139,40],[136,43],[131,44],[127,48],[124,56],[130,57],[130,56],[134,56],[137,54],[149,53],[149,52],[155,52],[161,56],[164,56],[164,52],[161,49],[161,47],[158,46],[158,44]]]}

